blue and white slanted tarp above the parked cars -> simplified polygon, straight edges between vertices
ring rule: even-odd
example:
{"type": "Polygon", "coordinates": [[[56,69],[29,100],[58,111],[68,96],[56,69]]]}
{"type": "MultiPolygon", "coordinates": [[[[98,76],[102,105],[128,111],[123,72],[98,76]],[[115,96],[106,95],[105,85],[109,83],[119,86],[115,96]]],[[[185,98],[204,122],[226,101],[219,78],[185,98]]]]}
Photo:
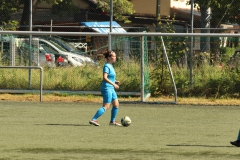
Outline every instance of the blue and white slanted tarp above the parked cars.
{"type": "MultiPolygon", "coordinates": [[[[99,33],[109,33],[110,22],[82,22],[84,26],[90,27],[99,33]]],[[[112,32],[114,33],[126,33],[126,31],[115,21],[112,21],[112,32]]]]}

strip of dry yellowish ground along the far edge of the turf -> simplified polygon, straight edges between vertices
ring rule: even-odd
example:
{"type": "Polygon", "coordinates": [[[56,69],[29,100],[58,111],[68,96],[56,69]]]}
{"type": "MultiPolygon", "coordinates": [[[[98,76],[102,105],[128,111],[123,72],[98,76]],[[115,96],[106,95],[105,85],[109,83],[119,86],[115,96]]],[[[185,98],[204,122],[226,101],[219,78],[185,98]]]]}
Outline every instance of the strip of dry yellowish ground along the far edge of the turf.
{"type": "MultiPolygon", "coordinates": [[[[59,96],[47,94],[43,95],[42,100],[44,102],[96,102],[102,103],[101,96],[93,95],[71,95],[71,96],[59,96]]],[[[140,101],[140,97],[119,98],[120,101],[140,101]]],[[[0,94],[0,101],[40,101],[40,96],[35,94],[0,94]]],[[[150,97],[147,102],[165,102],[173,101],[173,98],[150,97]]],[[[192,104],[192,105],[231,105],[239,106],[239,99],[206,99],[206,98],[178,98],[177,104],[192,104]]]]}

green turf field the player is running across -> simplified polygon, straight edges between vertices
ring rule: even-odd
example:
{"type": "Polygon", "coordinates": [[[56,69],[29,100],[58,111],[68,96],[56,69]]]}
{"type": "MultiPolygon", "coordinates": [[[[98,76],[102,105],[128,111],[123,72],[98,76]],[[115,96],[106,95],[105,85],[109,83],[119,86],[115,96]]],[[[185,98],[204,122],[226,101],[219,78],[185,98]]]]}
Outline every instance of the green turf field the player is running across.
{"type": "Polygon", "coordinates": [[[0,160],[80,159],[239,159],[238,106],[121,104],[109,126],[110,110],[100,127],[88,121],[97,103],[0,102],[0,160]]]}

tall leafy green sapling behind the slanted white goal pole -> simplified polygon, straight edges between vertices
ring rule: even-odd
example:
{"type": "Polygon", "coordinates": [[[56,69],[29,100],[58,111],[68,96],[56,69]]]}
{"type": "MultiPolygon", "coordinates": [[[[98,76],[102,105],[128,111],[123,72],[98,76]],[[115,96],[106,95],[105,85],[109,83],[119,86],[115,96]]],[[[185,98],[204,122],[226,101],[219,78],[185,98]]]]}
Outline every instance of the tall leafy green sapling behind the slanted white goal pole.
{"type": "MultiPolygon", "coordinates": [[[[172,19],[166,19],[165,21],[160,21],[159,32],[161,33],[175,33],[176,28],[173,25],[175,21],[175,16],[172,19]]],[[[187,37],[171,37],[164,36],[164,46],[168,54],[168,60],[171,66],[177,67],[187,67],[185,66],[186,62],[186,52],[188,47],[186,47],[187,37]]],[[[155,37],[157,42],[157,56],[156,56],[156,66],[151,73],[152,91],[153,95],[161,95],[169,93],[169,70],[167,69],[167,61],[164,56],[163,44],[161,42],[161,37],[155,37]]]]}

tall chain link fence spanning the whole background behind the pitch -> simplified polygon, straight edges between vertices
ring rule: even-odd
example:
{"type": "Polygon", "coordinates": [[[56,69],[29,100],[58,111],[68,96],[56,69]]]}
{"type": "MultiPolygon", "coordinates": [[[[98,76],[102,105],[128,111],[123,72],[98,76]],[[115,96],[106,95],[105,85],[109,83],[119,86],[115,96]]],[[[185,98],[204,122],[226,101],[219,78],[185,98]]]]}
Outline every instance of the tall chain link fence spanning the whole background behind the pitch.
{"type": "MultiPolygon", "coordinates": [[[[96,1],[81,1],[78,7],[77,2],[72,2],[75,6],[71,10],[57,10],[56,4],[45,2],[34,6],[32,30],[61,33],[109,32],[109,14],[98,8],[96,1]]],[[[195,1],[195,7],[191,8],[191,1],[161,1],[161,7],[156,8],[158,0],[139,1],[141,6],[132,0],[130,3],[134,4],[135,13],[127,16],[131,23],[114,19],[113,32],[186,33],[186,36],[181,37],[163,37],[178,95],[239,97],[239,3],[228,0],[223,1],[226,5],[219,6],[211,3],[198,5],[197,2],[200,1],[195,1]],[[229,33],[231,36],[187,36],[187,33],[192,32],[229,33]]],[[[10,17],[9,20],[19,23],[4,23],[1,19],[2,30],[12,30],[14,25],[16,30],[29,29],[29,16],[24,16],[24,6],[11,13],[10,17]]],[[[147,36],[146,41],[150,92],[157,97],[173,96],[174,87],[160,37],[147,36]]],[[[136,95],[141,91],[141,36],[112,36],[111,44],[118,56],[115,68],[124,84],[120,92],[136,95]]],[[[43,66],[45,90],[98,91],[102,79],[101,67],[105,62],[102,52],[108,50],[108,45],[107,36],[2,34],[0,65],[43,66]]],[[[1,88],[9,89],[10,86],[1,88]]],[[[14,89],[34,89],[34,86],[38,85],[19,85],[14,89]]]]}

